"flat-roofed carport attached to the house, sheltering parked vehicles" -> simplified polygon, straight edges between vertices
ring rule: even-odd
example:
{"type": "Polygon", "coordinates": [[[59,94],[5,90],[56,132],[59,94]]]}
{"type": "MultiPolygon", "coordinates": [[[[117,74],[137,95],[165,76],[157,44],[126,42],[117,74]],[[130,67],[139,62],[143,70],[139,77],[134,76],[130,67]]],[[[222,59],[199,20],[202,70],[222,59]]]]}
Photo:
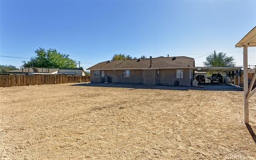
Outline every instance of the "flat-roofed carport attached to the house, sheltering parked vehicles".
{"type": "Polygon", "coordinates": [[[240,74],[239,71],[242,69],[242,67],[196,67],[195,70],[197,72],[222,72],[222,73],[229,73],[229,75],[234,76],[234,85],[236,85],[236,79],[237,84],[239,86],[239,80],[240,80],[240,74]],[[237,77],[237,78],[236,78],[237,77]]]}

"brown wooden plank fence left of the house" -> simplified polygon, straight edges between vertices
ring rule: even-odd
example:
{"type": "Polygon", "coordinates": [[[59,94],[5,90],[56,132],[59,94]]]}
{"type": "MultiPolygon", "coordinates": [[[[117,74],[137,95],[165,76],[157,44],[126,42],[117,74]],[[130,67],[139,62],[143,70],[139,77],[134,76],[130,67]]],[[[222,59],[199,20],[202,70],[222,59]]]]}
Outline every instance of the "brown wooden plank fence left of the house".
{"type": "Polygon", "coordinates": [[[65,74],[0,75],[0,87],[89,82],[90,76],[65,74]]]}

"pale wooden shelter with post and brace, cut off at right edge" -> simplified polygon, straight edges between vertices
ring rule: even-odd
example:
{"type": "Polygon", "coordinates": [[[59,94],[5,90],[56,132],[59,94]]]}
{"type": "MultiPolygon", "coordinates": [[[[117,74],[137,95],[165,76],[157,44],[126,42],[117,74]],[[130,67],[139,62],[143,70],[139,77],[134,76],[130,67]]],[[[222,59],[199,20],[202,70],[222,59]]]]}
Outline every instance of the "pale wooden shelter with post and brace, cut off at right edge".
{"type": "Polygon", "coordinates": [[[243,69],[244,69],[244,123],[249,124],[249,98],[255,94],[256,88],[253,89],[253,84],[256,78],[256,69],[251,80],[251,85],[248,87],[248,47],[256,47],[256,27],[254,27],[247,35],[244,36],[236,47],[243,47],[243,69]]]}

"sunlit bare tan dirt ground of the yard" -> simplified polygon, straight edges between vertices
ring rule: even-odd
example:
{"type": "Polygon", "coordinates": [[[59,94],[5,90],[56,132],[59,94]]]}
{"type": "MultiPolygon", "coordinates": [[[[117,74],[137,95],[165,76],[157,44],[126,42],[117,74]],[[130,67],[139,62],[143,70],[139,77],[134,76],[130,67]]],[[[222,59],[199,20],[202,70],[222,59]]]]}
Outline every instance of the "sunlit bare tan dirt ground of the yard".
{"type": "Polygon", "coordinates": [[[0,159],[256,159],[255,95],[71,85],[0,88],[0,159]]]}

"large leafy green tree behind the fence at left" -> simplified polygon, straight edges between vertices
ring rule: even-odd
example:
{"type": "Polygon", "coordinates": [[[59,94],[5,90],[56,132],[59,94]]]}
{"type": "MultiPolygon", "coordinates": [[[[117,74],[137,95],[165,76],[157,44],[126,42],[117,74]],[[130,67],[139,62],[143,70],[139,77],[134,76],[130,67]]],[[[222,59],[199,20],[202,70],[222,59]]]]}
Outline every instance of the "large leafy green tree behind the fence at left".
{"type": "Polygon", "coordinates": [[[38,68],[76,68],[76,61],[69,58],[68,54],[61,54],[56,49],[39,48],[35,50],[36,56],[30,61],[23,61],[25,67],[38,68]]]}

